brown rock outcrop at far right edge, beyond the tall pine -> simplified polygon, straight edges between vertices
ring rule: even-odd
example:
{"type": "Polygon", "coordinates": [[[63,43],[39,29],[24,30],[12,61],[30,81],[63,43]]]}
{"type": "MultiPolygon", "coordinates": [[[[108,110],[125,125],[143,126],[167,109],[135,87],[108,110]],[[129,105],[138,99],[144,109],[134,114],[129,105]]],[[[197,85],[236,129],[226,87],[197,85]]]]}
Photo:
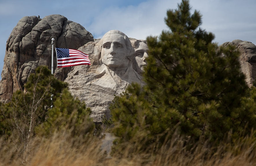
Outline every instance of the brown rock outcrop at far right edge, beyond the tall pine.
{"type": "Polygon", "coordinates": [[[225,42],[221,46],[228,44],[235,45],[240,50],[241,55],[239,61],[241,70],[246,76],[246,83],[252,86],[256,77],[256,46],[249,41],[233,40],[232,42],[225,42]]]}

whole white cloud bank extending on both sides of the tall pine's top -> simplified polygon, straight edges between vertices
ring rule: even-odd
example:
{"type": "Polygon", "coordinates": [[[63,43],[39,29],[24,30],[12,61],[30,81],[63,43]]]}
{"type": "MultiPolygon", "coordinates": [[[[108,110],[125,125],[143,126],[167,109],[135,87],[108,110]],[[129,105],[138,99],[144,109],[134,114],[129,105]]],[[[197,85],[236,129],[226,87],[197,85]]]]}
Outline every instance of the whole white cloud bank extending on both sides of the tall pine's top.
{"type": "MultiPolygon", "coordinates": [[[[101,38],[108,30],[117,29],[128,37],[146,39],[149,35],[160,35],[163,29],[168,29],[164,22],[167,9],[176,9],[180,2],[179,0],[151,0],[126,7],[109,6],[94,13],[89,24],[88,22],[80,24],[92,34],[95,33],[96,38],[101,38]]],[[[202,14],[202,28],[215,34],[215,41],[219,44],[234,39],[256,43],[256,39],[252,37],[256,32],[253,22],[256,17],[253,4],[255,2],[252,0],[190,1],[191,13],[196,9],[202,14]]]]}

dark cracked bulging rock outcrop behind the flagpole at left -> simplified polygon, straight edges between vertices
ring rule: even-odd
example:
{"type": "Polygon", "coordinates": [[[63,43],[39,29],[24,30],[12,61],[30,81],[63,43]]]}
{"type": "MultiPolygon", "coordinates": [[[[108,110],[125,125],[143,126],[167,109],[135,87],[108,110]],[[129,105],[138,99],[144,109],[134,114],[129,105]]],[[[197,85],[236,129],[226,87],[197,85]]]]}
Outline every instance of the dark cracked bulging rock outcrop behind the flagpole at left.
{"type": "MultiPolygon", "coordinates": [[[[10,100],[15,90],[23,90],[27,77],[38,65],[51,68],[52,37],[56,41],[55,46],[70,49],[78,49],[93,41],[92,34],[83,26],[64,16],[50,15],[43,19],[36,16],[23,17],[6,43],[0,82],[1,101],[10,100]]],[[[54,65],[56,66],[56,61],[54,65]]],[[[60,74],[62,72],[59,71],[60,74]]]]}

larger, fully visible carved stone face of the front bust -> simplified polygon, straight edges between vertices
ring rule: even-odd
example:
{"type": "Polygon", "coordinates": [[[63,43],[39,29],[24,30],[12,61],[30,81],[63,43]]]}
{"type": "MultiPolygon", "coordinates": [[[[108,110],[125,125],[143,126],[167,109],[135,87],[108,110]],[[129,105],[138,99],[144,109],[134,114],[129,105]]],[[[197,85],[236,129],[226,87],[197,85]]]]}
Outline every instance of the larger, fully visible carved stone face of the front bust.
{"type": "Polygon", "coordinates": [[[122,68],[128,66],[127,47],[124,37],[114,33],[106,35],[102,42],[101,59],[108,67],[122,68]]]}

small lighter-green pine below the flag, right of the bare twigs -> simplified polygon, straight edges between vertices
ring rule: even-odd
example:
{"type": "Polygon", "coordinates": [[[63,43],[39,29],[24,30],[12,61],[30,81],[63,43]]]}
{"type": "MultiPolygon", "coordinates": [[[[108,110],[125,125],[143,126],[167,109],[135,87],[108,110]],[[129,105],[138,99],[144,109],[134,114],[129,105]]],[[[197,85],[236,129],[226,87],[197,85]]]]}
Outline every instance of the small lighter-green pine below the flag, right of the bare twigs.
{"type": "Polygon", "coordinates": [[[84,138],[91,136],[95,128],[90,114],[91,109],[65,88],[54,102],[54,107],[48,110],[46,121],[38,125],[35,132],[40,136],[51,137],[55,132],[68,131],[72,138],[80,137],[83,139],[81,141],[85,141],[84,138]]]}

